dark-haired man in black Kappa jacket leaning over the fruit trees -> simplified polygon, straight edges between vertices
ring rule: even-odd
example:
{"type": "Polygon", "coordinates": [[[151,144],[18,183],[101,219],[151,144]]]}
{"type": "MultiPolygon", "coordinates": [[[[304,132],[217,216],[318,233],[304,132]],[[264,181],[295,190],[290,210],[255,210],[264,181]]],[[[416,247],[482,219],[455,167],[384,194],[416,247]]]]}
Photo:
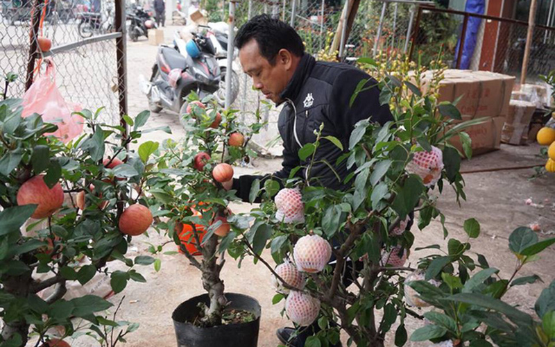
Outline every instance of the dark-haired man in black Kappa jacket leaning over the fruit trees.
{"type": "MultiPolygon", "coordinates": [[[[293,168],[306,167],[311,158],[301,161],[298,151],[305,144],[316,141],[314,130],[324,124],[322,135],[338,138],[344,151],[323,139],[310,172],[302,169],[296,175],[314,179],[311,184],[317,183],[331,189],[348,189],[352,182],[343,183],[343,179],[350,173],[346,160],[339,165],[336,165],[336,160],[348,151],[350,134],[355,124],[361,119],[370,118],[383,125],[393,119],[388,105],[379,105],[377,87],[361,92],[355,103],[349,106],[359,82],[370,76],[350,65],[317,62],[305,53],[300,36],[291,26],[268,15],[259,15],[244,24],[237,33],[235,44],[239,49],[241,65],[245,73],[253,78],[254,87],[276,105],[284,103],[278,119],[284,146],[282,169],[263,179],[284,180],[289,177],[293,168]],[[321,160],[334,166],[341,180],[321,160]]],[[[368,86],[376,84],[373,79],[367,83],[368,86]]],[[[237,196],[248,201],[250,187],[256,178],[262,177],[241,176],[226,183],[224,187],[236,189],[237,196]]],[[[289,346],[304,346],[307,334],[290,339],[293,331],[293,328],[279,329],[280,341],[289,346]]]]}

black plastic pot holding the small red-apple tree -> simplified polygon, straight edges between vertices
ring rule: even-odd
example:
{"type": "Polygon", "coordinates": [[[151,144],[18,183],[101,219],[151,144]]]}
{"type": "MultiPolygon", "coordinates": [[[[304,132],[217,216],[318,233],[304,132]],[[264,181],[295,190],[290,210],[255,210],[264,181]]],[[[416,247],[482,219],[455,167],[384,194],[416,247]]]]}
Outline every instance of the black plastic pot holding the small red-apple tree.
{"type": "Polygon", "coordinates": [[[226,293],[230,309],[245,310],[255,314],[249,323],[200,328],[187,323],[198,316],[198,303],[208,305],[208,294],[195,296],[179,305],[171,314],[176,329],[178,347],[257,347],[260,327],[260,305],[255,298],[243,294],[226,293]]]}

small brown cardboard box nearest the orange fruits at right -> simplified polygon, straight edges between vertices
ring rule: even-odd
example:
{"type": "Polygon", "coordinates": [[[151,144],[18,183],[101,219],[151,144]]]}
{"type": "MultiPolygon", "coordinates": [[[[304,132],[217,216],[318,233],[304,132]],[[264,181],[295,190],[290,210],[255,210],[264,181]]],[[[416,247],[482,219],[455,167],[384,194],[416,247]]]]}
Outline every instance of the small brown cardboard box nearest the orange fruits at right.
{"type": "Polygon", "coordinates": [[[524,144],[536,105],[529,101],[511,100],[509,114],[505,119],[501,141],[506,144],[524,144]]]}

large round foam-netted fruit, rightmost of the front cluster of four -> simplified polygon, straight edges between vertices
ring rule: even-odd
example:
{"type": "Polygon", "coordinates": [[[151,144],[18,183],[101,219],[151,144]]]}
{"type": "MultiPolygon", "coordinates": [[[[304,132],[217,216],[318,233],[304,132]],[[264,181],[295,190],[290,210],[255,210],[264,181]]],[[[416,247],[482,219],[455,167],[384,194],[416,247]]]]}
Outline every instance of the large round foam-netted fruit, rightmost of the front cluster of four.
{"type": "Polygon", "coordinates": [[[293,258],[297,269],[304,272],[316,273],[324,269],[325,264],[332,257],[332,246],[323,237],[305,235],[298,239],[293,248],[293,258]]]}

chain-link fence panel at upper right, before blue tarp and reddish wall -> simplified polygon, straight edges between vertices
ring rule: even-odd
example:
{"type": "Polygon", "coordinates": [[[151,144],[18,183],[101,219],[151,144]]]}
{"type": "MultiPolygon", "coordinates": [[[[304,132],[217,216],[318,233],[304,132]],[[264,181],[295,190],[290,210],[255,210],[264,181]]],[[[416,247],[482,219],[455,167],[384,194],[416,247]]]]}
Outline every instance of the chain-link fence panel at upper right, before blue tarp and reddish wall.
{"type": "MultiPolygon", "coordinates": [[[[434,60],[439,51],[454,68],[494,71],[520,79],[528,24],[513,19],[475,15],[441,8],[418,8],[411,50],[413,60],[434,60]],[[473,23],[472,23],[473,22],[473,23]],[[470,35],[473,26],[474,35],[470,35]],[[474,49],[470,49],[475,42],[474,49]],[[459,50],[459,46],[463,49],[459,50]]],[[[555,68],[555,28],[536,26],[528,62],[527,83],[555,68]]]]}

